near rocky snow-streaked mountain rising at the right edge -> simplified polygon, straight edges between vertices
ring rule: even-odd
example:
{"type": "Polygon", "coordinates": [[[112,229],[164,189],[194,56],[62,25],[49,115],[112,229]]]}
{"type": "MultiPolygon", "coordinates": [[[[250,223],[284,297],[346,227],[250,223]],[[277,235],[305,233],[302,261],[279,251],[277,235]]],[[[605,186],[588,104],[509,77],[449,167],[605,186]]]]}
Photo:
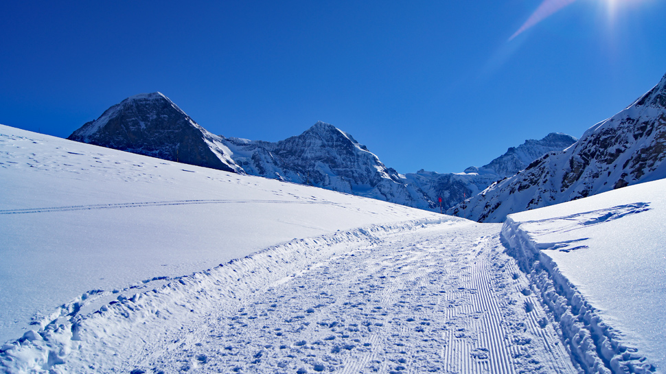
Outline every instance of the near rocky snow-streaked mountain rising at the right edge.
{"type": "Polygon", "coordinates": [[[575,145],[544,154],[523,172],[461,202],[449,214],[501,222],[507,214],[666,178],[666,75],[575,145]]]}

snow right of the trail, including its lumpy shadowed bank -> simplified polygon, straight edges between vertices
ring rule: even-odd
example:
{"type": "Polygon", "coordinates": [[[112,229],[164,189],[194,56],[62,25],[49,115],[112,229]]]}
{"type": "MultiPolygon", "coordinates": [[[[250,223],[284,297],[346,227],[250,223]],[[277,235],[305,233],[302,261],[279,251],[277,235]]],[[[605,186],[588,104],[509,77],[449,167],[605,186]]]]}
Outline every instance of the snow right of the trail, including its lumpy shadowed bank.
{"type": "Polygon", "coordinates": [[[502,235],[588,373],[664,373],[666,180],[509,215],[502,235]]]}

